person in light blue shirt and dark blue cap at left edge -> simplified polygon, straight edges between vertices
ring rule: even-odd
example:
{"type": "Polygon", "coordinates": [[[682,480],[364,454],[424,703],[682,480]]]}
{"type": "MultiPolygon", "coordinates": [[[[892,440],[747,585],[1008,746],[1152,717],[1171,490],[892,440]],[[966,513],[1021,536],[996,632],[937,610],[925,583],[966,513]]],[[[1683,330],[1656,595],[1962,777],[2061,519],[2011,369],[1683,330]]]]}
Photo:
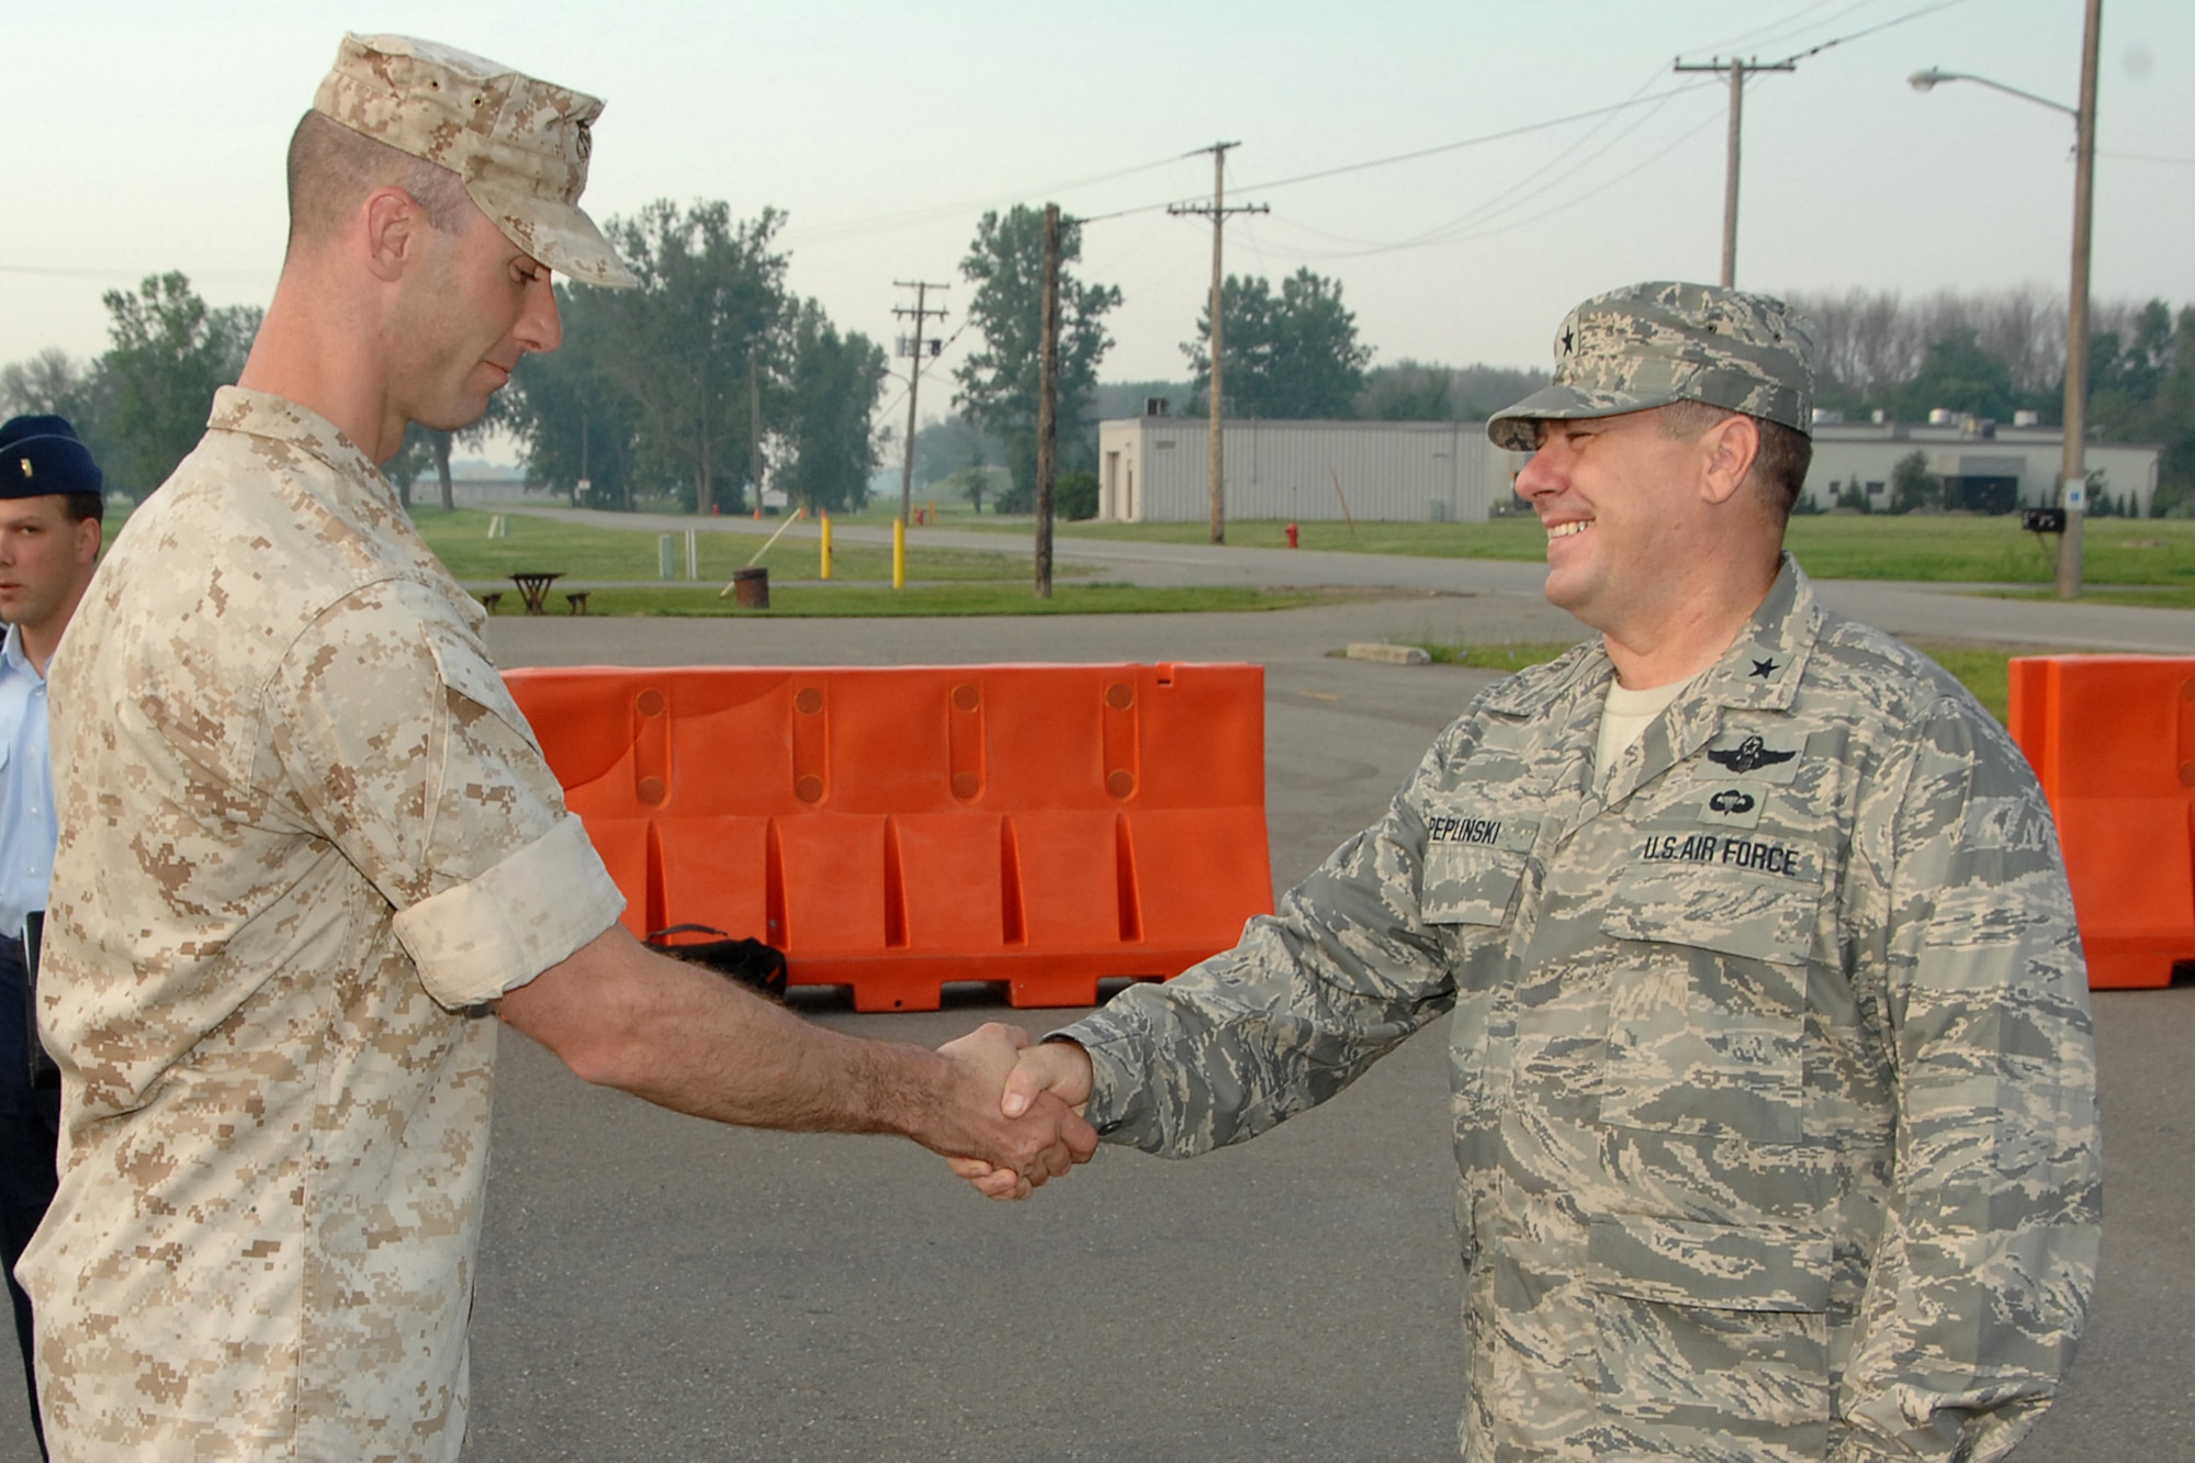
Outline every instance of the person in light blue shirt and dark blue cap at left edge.
{"type": "MultiPolygon", "coordinates": [[[[46,1217],[61,1131],[61,1081],[31,1021],[24,927],[46,909],[53,879],[53,773],[46,745],[46,663],[99,567],[105,479],[64,417],[0,426],[0,1259],[22,1344],[31,1426],[31,1296],[15,1261],[46,1217]]],[[[44,1452],[44,1434],[40,1434],[44,1452]]]]}

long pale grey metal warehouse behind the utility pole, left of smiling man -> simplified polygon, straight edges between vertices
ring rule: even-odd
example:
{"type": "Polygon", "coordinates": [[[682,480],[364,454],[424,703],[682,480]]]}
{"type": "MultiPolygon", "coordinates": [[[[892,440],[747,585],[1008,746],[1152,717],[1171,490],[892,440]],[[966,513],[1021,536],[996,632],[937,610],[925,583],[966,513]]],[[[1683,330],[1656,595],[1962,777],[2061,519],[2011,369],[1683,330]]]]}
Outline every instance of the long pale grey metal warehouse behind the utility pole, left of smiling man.
{"type": "MultiPolygon", "coordinates": [[[[1100,424],[1100,514],[1207,518],[1207,444],[1205,422],[1100,424]]],[[[1229,518],[1341,518],[1348,494],[1348,512],[1365,521],[1477,521],[1510,496],[1523,466],[1486,439],[1484,422],[1227,422],[1223,446],[1229,518]]]]}

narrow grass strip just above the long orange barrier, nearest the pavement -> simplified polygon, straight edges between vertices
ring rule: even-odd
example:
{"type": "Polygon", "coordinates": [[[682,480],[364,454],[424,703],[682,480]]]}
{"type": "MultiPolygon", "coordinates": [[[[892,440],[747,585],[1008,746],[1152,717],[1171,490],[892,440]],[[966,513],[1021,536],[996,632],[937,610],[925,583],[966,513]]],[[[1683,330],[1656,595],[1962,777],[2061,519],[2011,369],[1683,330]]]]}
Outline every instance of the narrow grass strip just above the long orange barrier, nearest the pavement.
{"type": "MultiPolygon", "coordinates": [[[[1133,584],[1054,584],[1051,600],[1038,600],[1029,571],[1012,584],[964,580],[957,584],[830,584],[808,580],[770,584],[770,608],[740,608],[709,587],[597,589],[588,598],[593,615],[724,615],[766,617],[889,617],[889,615],[1181,615],[1207,611],[1275,611],[1315,604],[1317,591],[1267,589],[1137,589],[1133,584]]],[[[551,613],[562,613],[562,595],[551,593],[551,613]]],[[[516,615],[518,598],[505,595],[498,615],[516,615]]]]}

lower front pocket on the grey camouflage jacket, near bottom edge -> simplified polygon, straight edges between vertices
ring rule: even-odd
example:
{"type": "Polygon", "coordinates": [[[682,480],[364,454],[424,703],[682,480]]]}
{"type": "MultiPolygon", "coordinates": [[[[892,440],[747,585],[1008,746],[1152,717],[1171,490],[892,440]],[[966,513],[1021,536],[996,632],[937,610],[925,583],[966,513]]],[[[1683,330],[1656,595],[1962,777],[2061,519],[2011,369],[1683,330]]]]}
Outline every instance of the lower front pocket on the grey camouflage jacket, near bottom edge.
{"type": "Polygon", "coordinates": [[[1655,1456],[1820,1456],[1831,1239],[1785,1226],[1591,1221],[1602,1406],[1655,1456]],[[1782,1454],[1776,1454],[1782,1456],[1782,1454]]]}

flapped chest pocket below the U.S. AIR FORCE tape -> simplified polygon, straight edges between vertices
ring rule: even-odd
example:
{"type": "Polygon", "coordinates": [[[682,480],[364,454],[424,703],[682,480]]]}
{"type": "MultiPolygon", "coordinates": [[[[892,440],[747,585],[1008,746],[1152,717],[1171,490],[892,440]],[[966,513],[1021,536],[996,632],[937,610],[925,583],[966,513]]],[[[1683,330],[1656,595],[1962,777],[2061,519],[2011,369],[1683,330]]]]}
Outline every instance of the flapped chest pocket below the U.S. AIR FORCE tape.
{"type": "Polygon", "coordinates": [[[1798,1142],[1806,960],[1822,890],[1730,868],[1618,879],[1600,931],[1609,989],[1600,1120],[1798,1142]]]}

